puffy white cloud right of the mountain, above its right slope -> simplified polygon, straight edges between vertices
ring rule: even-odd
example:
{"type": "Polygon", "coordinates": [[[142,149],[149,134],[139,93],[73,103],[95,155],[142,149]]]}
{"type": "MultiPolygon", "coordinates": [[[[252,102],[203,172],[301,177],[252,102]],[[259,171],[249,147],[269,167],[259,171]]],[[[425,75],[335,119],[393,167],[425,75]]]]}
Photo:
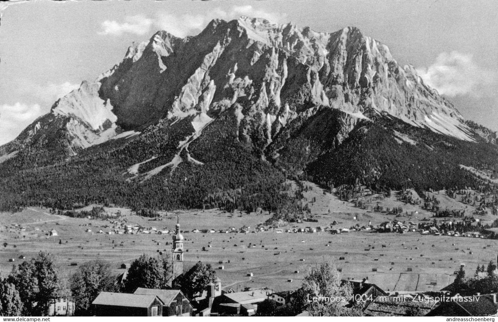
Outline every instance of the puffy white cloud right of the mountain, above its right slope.
{"type": "Polygon", "coordinates": [[[417,72],[427,85],[450,97],[479,97],[489,91],[494,79],[491,72],[474,63],[472,54],[457,51],[441,53],[434,64],[417,72]]]}

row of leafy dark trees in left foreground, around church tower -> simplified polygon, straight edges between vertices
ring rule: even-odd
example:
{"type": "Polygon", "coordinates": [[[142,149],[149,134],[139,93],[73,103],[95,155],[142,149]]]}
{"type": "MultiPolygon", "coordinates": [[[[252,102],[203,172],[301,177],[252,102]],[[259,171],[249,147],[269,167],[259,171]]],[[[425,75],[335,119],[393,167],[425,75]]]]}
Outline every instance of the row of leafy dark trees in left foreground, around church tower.
{"type": "MultiPolygon", "coordinates": [[[[80,265],[69,277],[59,273],[56,257],[39,252],[35,258],[12,267],[10,274],[0,276],[0,309],[3,316],[47,316],[50,305],[59,299],[74,301],[77,316],[92,316],[91,303],[101,292],[133,293],[138,287],[176,288],[190,300],[202,294],[216,272],[210,264],[196,263],[172,284],[170,256],[141,255],[131,262],[126,278],[120,282],[113,267],[100,259],[80,265]]],[[[69,313],[66,307],[64,314],[69,313]]]]}

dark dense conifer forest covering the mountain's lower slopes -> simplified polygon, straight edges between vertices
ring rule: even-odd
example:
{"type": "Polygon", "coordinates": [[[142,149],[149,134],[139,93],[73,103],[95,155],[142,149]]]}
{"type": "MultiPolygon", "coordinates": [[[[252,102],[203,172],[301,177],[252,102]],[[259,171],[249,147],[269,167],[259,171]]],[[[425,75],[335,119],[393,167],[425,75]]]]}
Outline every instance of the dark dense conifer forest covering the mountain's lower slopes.
{"type": "Polygon", "coordinates": [[[286,183],[289,179],[311,180],[326,188],[360,184],[385,192],[494,189],[460,167],[497,176],[497,146],[483,138],[467,142],[378,117],[361,120],[339,142],[341,113],[328,109],[296,118],[264,146],[258,141],[264,134],[241,134],[235,113],[227,110],[181,151],[184,161],[173,171],[172,166],[165,167],[147,180],[140,174],[180,152],[178,142],[193,132],[189,118],[174,124],[163,119],[143,128],[140,135],[110,140],[68,158],[62,158],[67,147],[55,150],[60,155],[30,147],[0,164],[0,210],[45,206],[67,211],[96,203],[135,211],[262,208],[282,217],[302,212],[299,198],[286,183]],[[415,144],[397,139],[394,131],[405,133],[415,144]],[[200,163],[186,161],[187,153],[200,163]],[[128,173],[131,165],[151,156],[155,159],[138,167],[137,178],[128,173]]]}

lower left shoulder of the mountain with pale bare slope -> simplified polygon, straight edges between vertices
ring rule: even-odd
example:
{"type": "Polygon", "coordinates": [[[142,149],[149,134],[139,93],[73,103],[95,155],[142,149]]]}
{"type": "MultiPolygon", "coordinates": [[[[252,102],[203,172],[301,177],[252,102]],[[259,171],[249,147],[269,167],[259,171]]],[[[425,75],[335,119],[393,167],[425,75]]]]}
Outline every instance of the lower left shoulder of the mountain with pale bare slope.
{"type": "Polygon", "coordinates": [[[109,100],[105,102],[99,97],[99,87],[100,83],[84,81],[78,89],[57,100],[50,113],[2,146],[4,153],[20,151],[18,157],[27,160],[64,158],[114,137],[117,117],[109,100]]]}

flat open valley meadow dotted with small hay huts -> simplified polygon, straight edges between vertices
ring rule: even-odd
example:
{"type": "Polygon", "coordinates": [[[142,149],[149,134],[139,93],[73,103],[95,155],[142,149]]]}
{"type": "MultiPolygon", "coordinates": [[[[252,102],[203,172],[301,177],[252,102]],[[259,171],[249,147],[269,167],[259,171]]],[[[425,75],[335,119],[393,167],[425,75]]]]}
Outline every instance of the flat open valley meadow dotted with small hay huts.
{"type": "MultiPolygon", "coordinates": [[[[342,204],[337,200],[333,202],[342,204]]],[[[351,207],[346,203],[343,205],[351,207]]],[[[359,211],[358,208],[351,209],[359,211]]],[[[240,212],[231,215],[212,210],[163,213],[160,220],[150,220],[131,215],[125,209],[107,211],[121,211],[126,222],[157,227],[158,230],[164,227],[172,229],[178,214],[182,230],[185,230],[184,247],[188,250],[185,253],[185,267],[190,267],[198,260],[211,263],[223,280],[223,287],[234,290],[245,286],[267,286],[277,291],[297,289],[306,268],[323,260],[332,260],[342,269],[345,278],[368,277],[386,291],[440,290],[453,281],[452,274],[461,263],[466,264],[467,274],[473,275],[478,264],[486,265],[496,257],[498,249],[498,240],[421,235],[415,232],[397,234],[352,231],[332,235],[328,232],[276,233],[269,230],[245,234],[192,233],[186,230],[227,229],[232,226],[240,228],[243,225],[250,226],[252,230],[258,223],[268,219],[269,215],[244,213],[240,216],[240,212]],[[207,251],[203,251],[202,247],[207,251]],[[219,261],[223,261],[223,264],[218,264],[219,261]],[[221,265],[224,266],[223,270],[218,269],[221,265]],[[299,273],[294,273],[296,270],[299,273]],[[248,273],[253,276],[247,276],[248,273]],[[292,282],[288,282],[290,279],[292,282]]],[[[341,211],[343,212],[319,215],[319,222],[290,226],[325,226],[337,220],[337,227],[349,227],[355,222],[364,225],[368,220],[375,224],[392,219],[392,215],[358,212],[355,220],[353,213],[346,212],[348,209],[341,211]]],[[[118,274],[123,271],[119,269],[121,263],[129,263],[142,253],[154,255],[158,250],[169,251],[171,248],[171,234],[98,233],[100,229],[109,230],[104,227],[109,221],[50,215],[46,209],[30,208],[17,214],[2,213],[0,221],[1,243],[8,243],[6,247],[0,246],[0,270],[3,276],[8,274],[13,264],[8,262],[9,258],[15,258],[14,263],[17,264],[23,260],[18,259],[19,255],[29,259],[40,250],[57,256],[61,272],[71,273],[77,269],[77,266],[70,266],[70,263],[81,264],[100,258],[112,263],[118,274]],[[11,223],[17,223],[26,230],[5,228],[11,227],[11,223]],[[35,228],[39,230],[34,230],[35,228]],[[58,236],[45,235],[54,228],[58,236]],[[85,232],[86,229],[92,229],[92,232],[85,232]]]]}

